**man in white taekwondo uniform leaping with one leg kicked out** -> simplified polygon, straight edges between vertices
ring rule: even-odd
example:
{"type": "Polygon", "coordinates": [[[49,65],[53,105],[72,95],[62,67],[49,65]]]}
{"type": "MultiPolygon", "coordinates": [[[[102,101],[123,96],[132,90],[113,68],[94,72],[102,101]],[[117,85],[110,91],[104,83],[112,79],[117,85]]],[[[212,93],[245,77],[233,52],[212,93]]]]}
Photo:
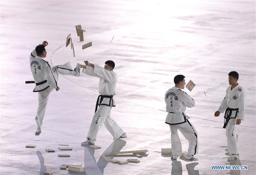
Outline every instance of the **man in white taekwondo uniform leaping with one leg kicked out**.
{"type": "Polygon", "coordinates": [[[51,68],[50,64],[43,60],[46,57],[47,41],[44,41],[42,45],[38,45],[30,54],[30,69],[32,71],[34,81],[27,81],[26,83],[36,83],[36,87],[33,92],[38,92],[38,109],[36,114],[37,130],[35,135],[38,136],[41,131],[42,122],[47,106],[47,101],[50,92],[54,89],[58,91],[58,77],[60,74],[79,76],[80,64],[78,63],[74,70],[72,70],[70,63],[64,65],[58,65],[51,68]]]}

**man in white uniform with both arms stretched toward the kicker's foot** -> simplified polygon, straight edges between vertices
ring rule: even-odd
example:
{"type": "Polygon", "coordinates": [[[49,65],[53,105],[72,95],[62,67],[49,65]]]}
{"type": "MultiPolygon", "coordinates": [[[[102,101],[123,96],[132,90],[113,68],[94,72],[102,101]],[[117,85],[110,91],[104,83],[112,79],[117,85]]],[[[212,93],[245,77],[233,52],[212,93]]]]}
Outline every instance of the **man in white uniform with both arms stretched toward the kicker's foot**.
{"type": "Polygon", "coordinates": [[[115,107],[115,100],[113,98],[113,96],[116,94],[115,90],[117,82],[116,73],[113,71],[115,63],[108,60],[105,62],[105,67],[103,68],[98,65],[91,64],[88,61],[84,62],[85,65],[81,65],[81,68],[83,68],[83,73],[99,78],[100,95],[97,99],[95,114],[87,134],[87,140],[81,144],[95,144],[97,133],[103,123],[113,136],[114,140],[118,138],[126,138],[126,133],[110,117],[110,111],[112,107],[115,107]],[[97,109],[98,106],[99,109],[97,109]]]}

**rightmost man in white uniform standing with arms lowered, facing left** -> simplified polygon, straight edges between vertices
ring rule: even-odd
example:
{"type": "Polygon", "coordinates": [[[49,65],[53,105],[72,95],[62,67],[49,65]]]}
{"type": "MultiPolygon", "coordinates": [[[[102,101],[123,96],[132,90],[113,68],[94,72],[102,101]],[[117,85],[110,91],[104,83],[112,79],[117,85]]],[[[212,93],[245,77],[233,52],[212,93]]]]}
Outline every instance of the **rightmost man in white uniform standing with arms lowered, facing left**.
{"type": "Polygon", "coordinates": [[[240,125],[241,120],[244,120],[245,113],[245,90],[237,83],[239,75],[236,71],[228,74],[229,87],[226,90],[218,111],[214,116],[218,117],[220,113],[224,113],[224,126],[226,128],[226,136],[228,141],[228,151],[230,157],[228,160],[239,158],[237,140],[236,140],[236,125],[240,125]]]}

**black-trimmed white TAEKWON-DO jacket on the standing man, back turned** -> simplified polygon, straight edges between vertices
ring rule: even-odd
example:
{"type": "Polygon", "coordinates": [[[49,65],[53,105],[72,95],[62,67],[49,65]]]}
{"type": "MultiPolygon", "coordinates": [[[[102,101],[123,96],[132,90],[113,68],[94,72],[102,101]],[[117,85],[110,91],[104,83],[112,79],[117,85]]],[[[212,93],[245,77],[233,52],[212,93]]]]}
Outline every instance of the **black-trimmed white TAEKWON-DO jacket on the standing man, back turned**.
{"type": "Polygon", "coordinates": [[[186,92],[172,87],[165,93],[166,111],[169,112],[165,123],[178,125],[185,123],[190,117],[185,115],[186,107],[194,107],[195,101],[186,92]]]}

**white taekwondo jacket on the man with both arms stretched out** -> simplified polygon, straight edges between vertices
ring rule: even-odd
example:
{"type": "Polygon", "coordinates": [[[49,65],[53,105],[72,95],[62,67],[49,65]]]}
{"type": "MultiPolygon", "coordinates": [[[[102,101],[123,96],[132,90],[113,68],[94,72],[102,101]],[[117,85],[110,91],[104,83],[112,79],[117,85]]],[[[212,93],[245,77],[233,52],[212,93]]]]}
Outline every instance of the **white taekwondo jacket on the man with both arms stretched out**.
{"type": "Polygon", "coordinates": [[[86,66],[86,69],[83,68],[83,73],[88,75],[99,77],[99,96],[98,98],[98,105],[106,105],[106,106],[113,106],[115,107],[115,100],[114,98],[105,98],[103,96],[113,96],[116,95],[116,82],[117,76],[114,71],[109,71],[101,66],[95,65],[94,68],[91,66],[86,66]]]}

